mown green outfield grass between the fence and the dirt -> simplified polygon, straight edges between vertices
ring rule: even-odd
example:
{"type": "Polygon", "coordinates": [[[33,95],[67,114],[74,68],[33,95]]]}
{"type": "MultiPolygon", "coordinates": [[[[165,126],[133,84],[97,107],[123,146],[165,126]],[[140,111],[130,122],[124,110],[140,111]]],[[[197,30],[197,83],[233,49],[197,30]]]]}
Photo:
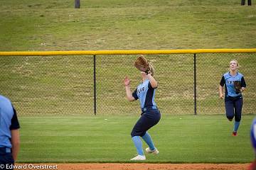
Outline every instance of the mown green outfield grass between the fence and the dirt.
{"type": "MultiPolygon", "coordinates": [[[[137,118],[22,117],[18,162],[129,162],[136,154],[129,134],[137,118]]],[[[224,115],[163,115],[149,130],[160,154],[146,155],[146,162],[251,162],[253,118],[243,116],[238,136],[233,137],[233,123],[224,115]]]]}

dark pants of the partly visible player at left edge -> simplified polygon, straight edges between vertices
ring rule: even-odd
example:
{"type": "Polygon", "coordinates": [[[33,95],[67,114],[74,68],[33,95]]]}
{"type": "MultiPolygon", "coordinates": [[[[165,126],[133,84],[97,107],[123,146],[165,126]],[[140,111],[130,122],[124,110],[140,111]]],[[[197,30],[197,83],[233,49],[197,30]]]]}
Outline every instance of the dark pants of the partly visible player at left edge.
{"type": "Polygon", "coordinates": [[[0,169],[1,170],[11,169],[11,165],[14,165],[14,159],[12,157],[11,152],[7,153],[6,148],[1,147],[0,148],[0,169]]]}

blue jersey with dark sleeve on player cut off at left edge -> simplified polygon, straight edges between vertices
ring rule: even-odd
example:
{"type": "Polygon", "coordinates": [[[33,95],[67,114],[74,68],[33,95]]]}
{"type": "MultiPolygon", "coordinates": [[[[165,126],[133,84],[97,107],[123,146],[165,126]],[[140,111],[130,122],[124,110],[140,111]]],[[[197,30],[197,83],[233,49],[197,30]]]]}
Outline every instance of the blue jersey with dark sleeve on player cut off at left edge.
{"type": "Polygon", "coordinates": [[[0,147],[11,148],[11,130],[20,128],[11,101],[0,95],[0,147]]]}

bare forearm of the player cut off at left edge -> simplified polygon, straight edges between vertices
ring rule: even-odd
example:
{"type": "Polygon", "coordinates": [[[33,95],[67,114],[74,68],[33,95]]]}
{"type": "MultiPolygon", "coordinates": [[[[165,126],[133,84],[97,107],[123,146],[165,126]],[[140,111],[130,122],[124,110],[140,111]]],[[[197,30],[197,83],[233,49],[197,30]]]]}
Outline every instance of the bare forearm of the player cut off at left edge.
{"type": "Polygon", "coordinates": [[[14,161],[16,161],[18,157],[18,151],[20,149],[20,137],[18,129],[11,130],[11,145],[11,154],[14,157],[14,161]]]}

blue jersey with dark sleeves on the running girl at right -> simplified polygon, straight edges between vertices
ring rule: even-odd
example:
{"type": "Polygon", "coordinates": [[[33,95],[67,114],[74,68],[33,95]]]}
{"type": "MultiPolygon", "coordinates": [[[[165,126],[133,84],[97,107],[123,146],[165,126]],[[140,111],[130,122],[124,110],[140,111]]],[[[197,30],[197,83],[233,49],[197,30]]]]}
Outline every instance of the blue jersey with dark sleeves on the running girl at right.
{"type": "Polygon", "coordinates": [[[220,80],[220,86],[224,86],[225,84],[225,96],[241,96],[241,93],[237,94],[235,92],[234,81],[240,81],[241,87],[246,87],[245,79],[242,74],[238,72],[235,76],[232,76],[230,72],[226,72],[220,80]]]}

